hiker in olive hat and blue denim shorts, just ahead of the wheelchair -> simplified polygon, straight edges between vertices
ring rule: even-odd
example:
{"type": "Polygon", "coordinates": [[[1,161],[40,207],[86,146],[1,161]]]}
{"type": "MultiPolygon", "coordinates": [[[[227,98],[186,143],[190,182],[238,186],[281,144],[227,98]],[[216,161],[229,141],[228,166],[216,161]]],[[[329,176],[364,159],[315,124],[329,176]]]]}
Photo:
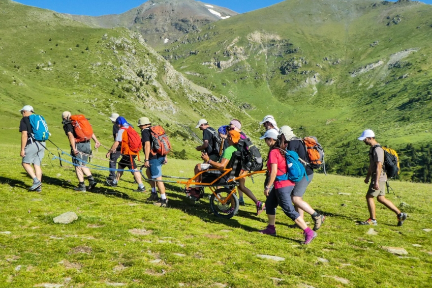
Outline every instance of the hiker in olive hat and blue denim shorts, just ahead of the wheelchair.
{"type": "MultiPolygon", "coordinates": [[[[141,117],[138,119],[138,127],[141,129],[141,141],[144,147],[144,166],[147,167],[145,174],[149,179],[162,180],[162,165],[167,163],[167,156],[163,156],[158,153],[151,153],[152,151],[152,136],[150,133],[151,122],[147,117],[141,117]]],[[[147,198],[148,201],[156,201],[153,203],[159,207],[168,207],[168,199],[165,193],[164,182],[160,181],[150,181],[151,194],[147,198]],[[161,198],[158,197],[158,192],[156,191],[156,186],[158,186],[161,198]]]]}

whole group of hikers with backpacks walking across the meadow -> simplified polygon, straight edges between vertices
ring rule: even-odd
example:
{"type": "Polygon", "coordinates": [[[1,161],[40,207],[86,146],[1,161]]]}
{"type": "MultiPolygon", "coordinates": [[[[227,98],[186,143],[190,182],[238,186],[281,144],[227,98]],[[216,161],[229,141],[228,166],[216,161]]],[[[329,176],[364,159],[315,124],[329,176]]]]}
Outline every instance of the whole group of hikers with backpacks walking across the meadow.
{"type": "MultiPolygon", "coordinates": [[[[22,119],[20,122],[19,131],[21,132],[21,153],[22,166],[27,174],[33,179],[33,185],[29,191],[42,191],[42,169],[41,161],[45,152],[45,141],[49,137],[49,132],[45,119],[34,113],[32,106],[25,105],[20,112],[22,119]],[[33,165],[33,167],[32,167],[33,165]]],[[[74,187],[76,191],[91,191],[97,185],[96,180],[91,175],[90,169],[86,166],[89,157],[91,157],[90,140],[95,141],[95,147],[99,148],[101,143],[93,133],[88,120],[82,115],[72,115],[71,112],[65,111],[61,114],[63,120],[63,128],[69,139],[71,147],[72,163],[75,167],[78,186],[74,187]],[[88,186],[85,185],[84,176],[87,177],[88,186]]],[[[113,123],[112,135],[114,138],[113,145],[108,149],[106,158],[109,159],[109,176],[106,179],[106,184],[116,187],[125,170],[131,171],[138,184],[138,188],[134,191],[144,192],[144,184],[140,170],[137,169],[136,158],[139,159],[139,152],[143,148],[145,159],[143,161],[146,167],[146,176],[151,186],[151,194],[147,198],[149,201],[155,201],[153,204],[159,207],[168,207],[168,199],[165,193],[165,186],[162,180],[162,166],[167,164],[167,154],[170,150],[169,141],[163,140],[165,131],[160,126],[151,126],[151,122],[147,117],[141,117],[138,120],[138,127],[141,130],[139,135],[133,125],[119,116],[117,113],[112,113],[109,117],[113,123]],[[158,136],[159,135],[159,136],[158,136]],[[158,140],[159,139],[159,140],[158,140]],[[162,139],[162,141],[161,141],[162,139]],[[159,141],[159,142],[158,142],[159,141]],[[118,158],[121,159],[118,161],[118,158]],[[118,167],[118,168],[116,168],[118,167]],[[159,180],[159,181],[158,181],[159,180]],[[160,197],[157,191],[159,190],[160,197]]],[[[238,180],[239,204],[244,206],[243,194],[251,198],[256,206],[256,214],[259,215],[262,211],[266,211],[268,217],[268,225],[259,232],[267,235],[276,235],[275,217],[276,208],[281,207],[282,211],[295,224],[292,227],[298,227],[303,230],[304,244],[310,243],[317,237],[318,229],[326,219],[326,216],[315,211],[303,199],[303,195],[314,178],[314,169],[319,165],[314,165],[311,159],[311,150],[319,146],[317,141],[313,141],[312,147],[306,144],[306,138],[297,137],[293,129],[289,126],[277,127],[273,116],[267,115],[260,122],[265,128],[265,133],[260,139],[264,139],[269,148],[267,154],[267,174],[264,184],[264,195],[266,196],[265,203],[259,201],[253,192],[245,186],[245,178],[238,180]],[[294,153],[294,154],[292,154],[294,153]],[[292,169],[296,163],[289,163],[290,155],[295,155],[302,163],[304,177],[294,179],[292,169]],[[304,212],[310,214],[314,226],[311,229],[307,226],[304,220],[304,212]]],[[[198,163],[194,172],[195,175],[201,171],[208,169],[219,169],[223,171],[230,162],[234,153],[244,149],[241,147],[241,140],[248,141],[250,138],[241,130],[241,122],[237,119],[230,121],[229,125],[219,127],[218,130],[210,127],[205,119],[199,120],[197,126],[203,132],[203,144],[195,149],[201,152],[203,163],[198,163]]],[[[364,182],[369,183],[369,188],[366,193],[367,207],[369,210],[369,219],[359,221],[361,225],[377,225],[375,214],[375,200],[389,208],[397,215],[397,225],[402,226],[407,218],[407,214],[400,212],[396,206],[385,198],[385,184],[387,176],[383,168],[385,153],[379,143],[375,139],[375,134],[372,130],[363,131],[358,138],[365,145],[368,145],[369,150],[369,169],[364,182]]],[[[316,140],[316,138],[315,138],[316,140]]],[[[252,147],[252,146],[250,146],[252,147]]],[[[249,148],[246,148],[249,149],[249,148]]],[[[323,157],[323,155],[321,155],[323,157]]],[[[297,159],[294,159],[298,161],[297,159]]],[[[240,176],[248,174],[248,170],[241,169],[240,176]]],[[[303,176],[303,175],[302,175],[303,176]]],[[[197,179],[199,182],[199,179],[197,179]]],[[[188,187],[186,189],[188,195],[192,198],[199,199],[200,187],[188,187]]]]}

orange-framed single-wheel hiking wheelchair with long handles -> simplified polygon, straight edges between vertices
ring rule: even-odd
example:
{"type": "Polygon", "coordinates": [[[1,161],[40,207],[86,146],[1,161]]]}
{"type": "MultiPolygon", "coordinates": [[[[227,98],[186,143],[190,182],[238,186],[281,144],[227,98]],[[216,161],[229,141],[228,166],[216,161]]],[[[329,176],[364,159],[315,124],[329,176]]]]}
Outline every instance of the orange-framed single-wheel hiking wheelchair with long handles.
{"type": "MultiPolygon", "coordinates": [[[[214,215],[221,218],[231,218],[238,212],[239,203],[236,195],[236,187],[240,185],[239,179],[249,177],[254,174],[264,174],[266,169],[249,172],[240,176],[241,169],[241,153],[234,152],[226,168],[221,171],[219,169],[207,169],[199,172],[193,178],[183,178],[175,176],[165,176],[162,178],[181,179],[172,180],[152,180],[145,175],[144,166],[141,167],[141,175],[146,181],[159,181],[165,183],[177,183],[186,185],[186,189],[190,186],[200,187],[200,198],[204,197],[204,188],[208,187],[212,194],[210,195],[210,209],[214,215]],[[201,176],[201,182],[196,179],[201,176]],[[187,181],[184,181],[187,180],[187,181]]],[[[199,200],[199,199],[198,199],[199,200]]]]}

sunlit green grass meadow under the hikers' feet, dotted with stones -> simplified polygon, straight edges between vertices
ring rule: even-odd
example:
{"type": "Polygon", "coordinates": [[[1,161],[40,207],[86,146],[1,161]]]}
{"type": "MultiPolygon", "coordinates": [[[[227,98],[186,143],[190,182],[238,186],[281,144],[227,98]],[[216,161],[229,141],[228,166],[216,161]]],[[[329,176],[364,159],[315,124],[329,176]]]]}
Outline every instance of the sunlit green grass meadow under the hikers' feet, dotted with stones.
{"type": "MultiPolygon", "coordinates": [[[[178,287],[179,283],[190,287],[432,285],[432,232],[422,230],[432,228],[429,184],[392,182],[396,195],[387,197],[397,206],[408,204],[409,217],[403,227],[397,227],[396,216],[377,203],[379,225],[373,228],[379,234],[372,236],[366,234],[371,227],[355,225],[368,218],[363,179],[317,174],[304,199],[328,218],[318,238],[302,246],[301,231],[287,227],[293,222],[280,209],[278,236],[264,236],[257,231],[266,225],[265,213],[255,216],[248,198],[237,216],[224,220],[209,213],[207,199],[193,204],[179,191],[180,185],[167,185],[169,208],[157,208],[145,201],[148,193],[132,192],[136,184],[129,173],[114,189],[103,184],[107,173],[94,171],[100,182],[96,191],[75,192],[73,168],[60,168],[58,160],[51,166],[48,159],[52,156],[48,155],[43,161],[43,192],[28,192],[31,180],[21,167],[19,147],[1,148],[0,232],[11,232],[0,234],[1,287],[42,283],[108,287],[107,283],[114,282],[128,287],[178,287]],[[341,192],[350,195],[338,194],[341,192]],[[76,212],[79,219],[67,225],[53,223],[52,218],[67,211],[76,212]],[[152,233],[136,236],[129,233],[134,228],[152,233]],[[382,246],[403,247],[408,255],[399,258],[382,246]],[[286,260],[263,260],[257,254],[286,260]],[[329,262],[321,263],[318,257],[329,262]],[[68,268],[71,266],[74,268],[68,268]]],[[[163,171],[190,177],[195,163],[169,159],[163,171]]],[[[148,189],[147,183],[145,186],[148,189]]],[[[263,177],[256,178],[255,184],[247,180],[246,186],[264,200],[263,177]]],[[[305,219],[312,222],[309,216],[305,219]]]]}

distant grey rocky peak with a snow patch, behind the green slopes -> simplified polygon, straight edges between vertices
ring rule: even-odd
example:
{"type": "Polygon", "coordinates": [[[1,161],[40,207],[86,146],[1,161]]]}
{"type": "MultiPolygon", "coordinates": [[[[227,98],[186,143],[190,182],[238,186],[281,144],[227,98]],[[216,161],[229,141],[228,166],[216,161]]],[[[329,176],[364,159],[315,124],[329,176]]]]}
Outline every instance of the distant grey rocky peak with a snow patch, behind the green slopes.
{"type": "Polygon", "coordinates": [[[127,27],[141,33],[150,46],[158,49],[185,33],[198,31],[205,24],[227,19],[237,13],[195,0],[149,0],[117,15],[65,15],[91,27],[127,27]]]}

